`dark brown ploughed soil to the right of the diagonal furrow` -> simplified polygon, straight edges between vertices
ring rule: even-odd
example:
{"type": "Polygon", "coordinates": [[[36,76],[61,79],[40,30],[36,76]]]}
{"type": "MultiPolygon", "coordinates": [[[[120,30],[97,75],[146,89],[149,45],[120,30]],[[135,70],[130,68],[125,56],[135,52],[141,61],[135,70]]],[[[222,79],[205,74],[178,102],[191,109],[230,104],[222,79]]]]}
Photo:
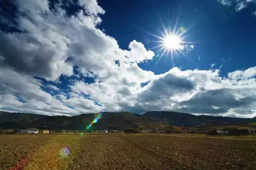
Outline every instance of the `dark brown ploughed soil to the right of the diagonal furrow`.
{"type": "Polygon", "coordinates": [[[189,168],[256,169],[256,143],[253,140],[155,135],[125,138],[189,168]]]}

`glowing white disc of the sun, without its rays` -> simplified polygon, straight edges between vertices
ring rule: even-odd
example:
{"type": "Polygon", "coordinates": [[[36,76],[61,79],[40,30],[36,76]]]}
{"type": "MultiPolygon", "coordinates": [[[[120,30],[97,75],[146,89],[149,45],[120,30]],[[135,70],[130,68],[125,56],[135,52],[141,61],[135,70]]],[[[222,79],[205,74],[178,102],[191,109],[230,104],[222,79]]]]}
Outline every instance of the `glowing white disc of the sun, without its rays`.
{"type": "Polygon", "coordinates": [[[163,43],[165,48],[168,48],[171,50],[183,49],[182,39],[180,39],[180,37],[178,37],[177,35],[167,35],[164,38],[165,39],[163,43]]]}

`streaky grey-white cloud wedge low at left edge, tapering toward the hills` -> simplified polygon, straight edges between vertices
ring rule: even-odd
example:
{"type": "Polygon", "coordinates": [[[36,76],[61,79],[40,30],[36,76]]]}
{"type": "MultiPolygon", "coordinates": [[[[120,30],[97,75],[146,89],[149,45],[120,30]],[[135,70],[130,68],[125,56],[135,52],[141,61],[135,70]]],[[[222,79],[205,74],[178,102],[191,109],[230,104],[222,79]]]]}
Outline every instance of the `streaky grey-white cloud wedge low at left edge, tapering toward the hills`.
{"type": "Polygon", "coordinates": [[[79,111],[41,90],[41,82],[32,76],[20,74],[9,67],[0,67],[0,103],[6,111],[43,114],[77,114],[79,111]],[[22,102],[19,100],[21,99],[22,102]]]}

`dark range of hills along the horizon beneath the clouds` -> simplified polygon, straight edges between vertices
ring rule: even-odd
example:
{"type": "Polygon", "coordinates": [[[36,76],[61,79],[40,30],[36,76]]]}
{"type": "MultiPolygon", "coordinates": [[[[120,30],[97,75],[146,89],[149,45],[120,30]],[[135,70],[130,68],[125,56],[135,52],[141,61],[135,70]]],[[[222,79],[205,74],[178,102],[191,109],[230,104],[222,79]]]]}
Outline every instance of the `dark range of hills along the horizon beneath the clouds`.
{"type": "MultiPolygon", "coordinates": [[[[9,113],[0,111],[0,129],[36,127],[38,129],[84,130],[96,113],[75,116],[47,116],[32,113],[9,113]]],[[[104,112],[102,119],[91,130],[98,129],[164,129],[173,126],[205,126],[256,122],[252,119],[191,115],[172,111],[149,111],[143,115],[130,112],[104,112]]]]}

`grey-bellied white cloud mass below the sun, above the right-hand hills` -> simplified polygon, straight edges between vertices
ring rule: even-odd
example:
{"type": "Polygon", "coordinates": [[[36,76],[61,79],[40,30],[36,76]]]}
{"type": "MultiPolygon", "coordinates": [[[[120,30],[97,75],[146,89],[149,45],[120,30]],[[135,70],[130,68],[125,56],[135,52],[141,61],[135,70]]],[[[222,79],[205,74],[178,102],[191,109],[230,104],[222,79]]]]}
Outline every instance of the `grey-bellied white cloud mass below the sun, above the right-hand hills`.
{"type": "Polygon", "coordinates": [[[224,116],[256,116],[256,67],[236,70],[228,78],[219,70],[179,70],[152,80],[138,94],[133,110],[175,110],[224,116]],[[172,76],[170,76],[172,75],[172,76]],[[174,76],[178,79],[175,80],[174,76]],[[166,78],[165,78],[166,77],[166,78]],[[172,78],[167,78],[172,77],[172,78]],[[171,83],[168,84],[170,81],[171,83]],[[177,86],[175,87],[175,83],[177,86]],[[173,84],[174,83],[174,84],[173,84]]]}

